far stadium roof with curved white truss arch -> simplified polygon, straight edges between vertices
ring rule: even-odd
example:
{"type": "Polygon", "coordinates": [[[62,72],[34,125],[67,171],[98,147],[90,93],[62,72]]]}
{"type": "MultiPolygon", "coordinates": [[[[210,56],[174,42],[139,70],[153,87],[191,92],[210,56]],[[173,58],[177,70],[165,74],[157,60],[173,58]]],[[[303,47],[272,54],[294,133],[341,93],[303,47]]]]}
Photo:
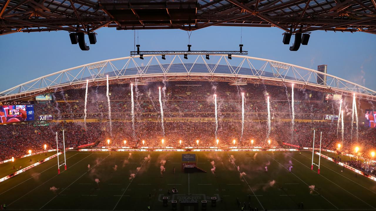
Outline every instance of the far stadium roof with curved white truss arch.
{"type": "MultiPolygon", "coordinates": [[[[329,70],[330,72],[330,70],[329,70]]],[[[33,96],[59,92],[68,89],[80,89],[86,86],[109,84],[147,84],[152,81],[226,81],[232,85],[247,83],[291,86],[338,93],[376,101],[376,91],[334,75],[318,72],[270,59],[232,55],[144,55],[144,59],[122,57],[64,69],[49,75],[14,86],[0,92],[0,101],[28,100],[33,96]],[[324,82],[322,82],[324,81],[324,82]]]]}

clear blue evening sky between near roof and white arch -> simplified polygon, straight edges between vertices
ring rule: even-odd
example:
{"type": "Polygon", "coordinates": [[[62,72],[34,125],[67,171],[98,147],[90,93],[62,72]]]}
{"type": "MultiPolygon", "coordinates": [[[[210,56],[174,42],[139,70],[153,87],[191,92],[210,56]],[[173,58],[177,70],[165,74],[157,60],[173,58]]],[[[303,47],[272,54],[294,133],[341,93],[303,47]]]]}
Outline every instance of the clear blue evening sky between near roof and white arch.
{"type": "MultiPolygon", "coordinates": [[[[327,64],[329,74],[376,90],[376,35],[368,33],[315,31],[308,45],[290,51],[289,45],[282,44],[283,31],[275,27],[214,26],[192,32],[192,50],[238,50],[241,30],[243,49],[249,51],[249,56],[312,69],[327,64]]],[[[97,44],[89,45],[89,51],[71,45],[68,32],[63,31],[0,36],[0,90],[77,65],[129,56],[133,51],[132,30],[102,28],[96,32],[97,44]]],[[[141,50],[186,50],[188,44],[183,30],[139,30],[138,34],[141,50]]]]}

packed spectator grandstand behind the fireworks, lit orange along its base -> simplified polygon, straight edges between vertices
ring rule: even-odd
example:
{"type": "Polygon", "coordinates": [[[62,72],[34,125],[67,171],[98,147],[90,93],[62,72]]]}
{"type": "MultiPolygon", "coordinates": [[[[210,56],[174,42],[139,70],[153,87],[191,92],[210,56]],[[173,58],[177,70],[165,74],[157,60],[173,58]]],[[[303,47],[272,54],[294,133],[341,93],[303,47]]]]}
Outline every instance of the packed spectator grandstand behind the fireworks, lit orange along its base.
{"type": "MultiPolygon", "coordinates": [[[[153,82],[134,87],[135,135],[131,122],[131,90],[129,84],[109,86],[111,99],[112,136],[109,132],[108,101],[106,87],[88,88],[86,105],[86,130],[84,127],[85,88],[51,93],[51,101],[37,101],[35,116],[52,115],[54,121],[23,122],[0,127],[2,134],[1,159],[24,155],[29,149],[41,151],[47,144],[56,145],[55,131],[65,130],[66,147],[76,148],[95,142],[97,147],[127,146],[130,148],[158,146],[258,146],[283,148],[287,145],[311,147],[313,131],[323,131],[322,148],[354,153],[371,158],[375,149],[374,128],[364,127],[359,121],[358,140],[350,139],[351,102],[344,100],[342,108],[347,112],[344,124],[344,142],[337,120],[325,120],[325,115],[338,115],[339,101],[326,98],[327,93],[308,89],[296,89],[294,93],[294,128],[291,127],[291,87],[248,84],[230,86],[226,82],[175,81],[153,82]],[[163,136],[158,87],[162,87],[164,108],[163,136]],[[244,133],[241,136],[241,103],[244,93],[244,133]],[[215,142],[215,102],[218,101],[218,145],[215,142]],[[271,132],[267,137],[267,96],[270,98],[271,132]],[[293,130],[293,132],[292,132],[293,130]],[[161,143],[164,139],[164,143],[161,143]],[[108,143],[110,140],[111,143],[108,143]],[[126,143],[124,143],[126,140],[126,143]],[[182,140],[180,143],[179,140],[182,140]],[[199,140],[199,143],[196,141],[199,140]],[[235,144],[233,142],[235,140],[235,144]],[[251,140],[252,143],[251,143],[251,140]],[[267,140],[271,140],[270,143],[267,140]],[[287,145],[286,145],[287,144],[287,145]]],[[[345,98],[344,98],[345,99],[345,98]]],[[[361,111],[362,112],[362,111],[361,111]]],[[[353,132],[355,133],[355,132],[353,132]]],[[[362,163],[352,163],[362,165],[362,163]]],[[[365,165],[367,167],[367,165],[365,165]]],[[[362,168],[359,166],[359,168],[362,168]]]]}

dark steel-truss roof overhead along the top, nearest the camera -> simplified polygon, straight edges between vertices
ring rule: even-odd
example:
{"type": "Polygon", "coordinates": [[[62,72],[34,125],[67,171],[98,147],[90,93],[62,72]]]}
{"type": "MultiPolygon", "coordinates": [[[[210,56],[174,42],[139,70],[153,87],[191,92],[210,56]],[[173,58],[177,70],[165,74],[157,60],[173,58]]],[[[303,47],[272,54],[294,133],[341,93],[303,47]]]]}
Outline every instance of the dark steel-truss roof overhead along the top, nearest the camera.
{"type": "MultiPolygon", "coordinates": [[[[0,0],[0,34],[278,27],[376,33],[376,0],[0,0]]],[[[299,31],[298,31],[299,30],[299,31]]]]}

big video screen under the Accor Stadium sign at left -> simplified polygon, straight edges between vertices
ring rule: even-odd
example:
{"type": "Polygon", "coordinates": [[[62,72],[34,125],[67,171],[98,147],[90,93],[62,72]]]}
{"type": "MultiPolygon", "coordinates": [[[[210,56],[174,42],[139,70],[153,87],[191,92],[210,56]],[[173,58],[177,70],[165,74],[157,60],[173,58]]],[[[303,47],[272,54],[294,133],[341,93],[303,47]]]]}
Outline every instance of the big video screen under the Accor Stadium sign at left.
{"type": "Polygon", "coordinates": [[[29,101],[4,102],[0,104],[0,123],[34,120],[34,104],[29,101]]]}

